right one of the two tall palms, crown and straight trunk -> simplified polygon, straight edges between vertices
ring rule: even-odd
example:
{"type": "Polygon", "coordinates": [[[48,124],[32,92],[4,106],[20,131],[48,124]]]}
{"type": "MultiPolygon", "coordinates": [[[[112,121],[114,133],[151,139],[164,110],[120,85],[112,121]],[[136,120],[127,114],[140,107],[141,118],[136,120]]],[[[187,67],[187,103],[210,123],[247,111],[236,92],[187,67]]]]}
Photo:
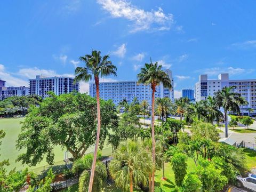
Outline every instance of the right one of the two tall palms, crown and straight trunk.
{"type": "MultiPolygon", "coordinates": [[[[155,164],[155,130],[154,130],[154,106],[155,106],[155,92],[156,86],[159,85],[161,82],[163,83],[164,87],[172,87],[171,79],[162,70],[162,66],[158,63],[152,63],[150,59],[150,63],[145,63],[145,68],[141,68],[140,73],[137,75],[138,83],[143,83],[146,85],[150,85],[152,89],[152,102],[151,102],[151,131],[152,131],[152,141],[153,141],[153,163],[155,164]]],[[[154,191],[155,185],[155,171],[153,168],[153,175],[152,175],[152,191],[154,191]]]]}

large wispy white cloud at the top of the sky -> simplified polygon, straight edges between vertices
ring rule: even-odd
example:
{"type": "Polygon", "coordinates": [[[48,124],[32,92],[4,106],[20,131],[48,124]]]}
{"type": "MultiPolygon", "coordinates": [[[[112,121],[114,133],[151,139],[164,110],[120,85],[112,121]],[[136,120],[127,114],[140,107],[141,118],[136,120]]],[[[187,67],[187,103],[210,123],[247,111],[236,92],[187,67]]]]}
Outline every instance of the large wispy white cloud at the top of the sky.
{"type": "Polygon", "coordinates": [[[125,0],[98,0],[102,8],[114,18],[125,18],[133,23],[131,32],[143,30],[170,30],[174,23],[172,14],[158,10],[145,11],[125,0]]]}

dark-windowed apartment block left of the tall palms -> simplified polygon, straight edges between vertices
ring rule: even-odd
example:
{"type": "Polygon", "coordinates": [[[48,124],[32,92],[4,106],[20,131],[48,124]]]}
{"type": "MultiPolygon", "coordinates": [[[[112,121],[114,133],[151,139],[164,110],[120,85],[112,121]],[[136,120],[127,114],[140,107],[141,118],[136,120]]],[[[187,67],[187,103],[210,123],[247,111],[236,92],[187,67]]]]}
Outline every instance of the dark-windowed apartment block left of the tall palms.
{"type": "Polygon", "coordinates": [[[43,77],[37,75],[29,79],[29,94],[47,97],[47,92],[53,91],[56,95],[79,91],[79,83],[74,84],[72,77],[43,77]]]}

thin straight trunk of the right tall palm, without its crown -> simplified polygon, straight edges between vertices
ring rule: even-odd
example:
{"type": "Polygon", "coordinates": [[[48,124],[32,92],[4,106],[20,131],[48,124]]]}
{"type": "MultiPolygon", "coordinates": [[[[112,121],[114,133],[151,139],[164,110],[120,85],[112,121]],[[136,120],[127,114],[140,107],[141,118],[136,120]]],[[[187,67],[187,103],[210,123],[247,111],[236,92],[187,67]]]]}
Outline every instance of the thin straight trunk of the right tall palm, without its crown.
{"type": "Polygon", "coordinates": [[[152,171],[152,188],[151,191],[155,191],[155,116],[154,116],[154,106],[155,106],[155,89],[156,86],[152,85],[152,114],[151,114],[151,127],[152,127],[152,155],[153,155],[153,171],[152,171]]]}

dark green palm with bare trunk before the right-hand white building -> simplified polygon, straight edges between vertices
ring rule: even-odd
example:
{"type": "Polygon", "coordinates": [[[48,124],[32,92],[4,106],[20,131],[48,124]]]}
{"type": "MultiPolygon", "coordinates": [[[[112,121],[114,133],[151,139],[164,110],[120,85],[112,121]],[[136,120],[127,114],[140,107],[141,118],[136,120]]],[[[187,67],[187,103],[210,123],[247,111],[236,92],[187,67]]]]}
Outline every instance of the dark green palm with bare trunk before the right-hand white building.
{"type": "Polygon", "coordinates": [[[223,87],[221,91],[214,93],[217,107],[223,107],[225,113],[225,137],[228,137],[228,111],[237,113],[240,111],[241,95],[232,90],[235,86],[223,87]]]}

